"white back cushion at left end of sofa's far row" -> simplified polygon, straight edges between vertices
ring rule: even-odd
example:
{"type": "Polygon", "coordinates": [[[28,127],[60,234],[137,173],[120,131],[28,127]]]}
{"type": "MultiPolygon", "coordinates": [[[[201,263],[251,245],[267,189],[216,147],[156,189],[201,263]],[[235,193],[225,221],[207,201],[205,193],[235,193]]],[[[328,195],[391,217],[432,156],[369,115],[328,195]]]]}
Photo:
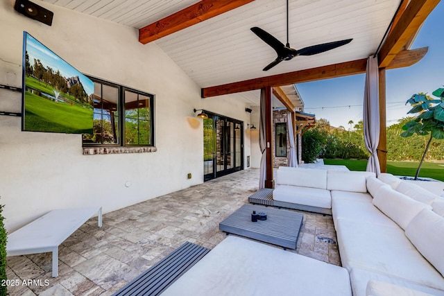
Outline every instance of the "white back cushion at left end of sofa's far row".
{"type": "Polygon", "coordinates": [[[327,171],[316,168],[286,168],[276,171],[276,185],[327,189],[327,171]]]}

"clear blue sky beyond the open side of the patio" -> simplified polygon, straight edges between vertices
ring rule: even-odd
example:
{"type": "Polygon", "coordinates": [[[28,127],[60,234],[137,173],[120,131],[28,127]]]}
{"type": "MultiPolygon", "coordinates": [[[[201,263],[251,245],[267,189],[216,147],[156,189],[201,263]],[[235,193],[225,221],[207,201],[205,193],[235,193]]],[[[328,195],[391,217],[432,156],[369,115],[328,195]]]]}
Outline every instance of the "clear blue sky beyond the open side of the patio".
{"type": "MultiPolygon", "coordinates": [[[[444,3],[427,17],[411,49],[429,46],[420,62],[411,67],[386,71],[386,119],[387,125],[407,117],[411,109],[405,102],[418,92],[432,92],[444,85],[444,3]],[[441,18],[440,18],[441,17],[441,18]]],[[[365,75],[347,76],[300,83],[296,85],[305,103],[305,112],[316,114],[316,119],[327,119],[338,127],[348,130],[348,121],[362,119],[365,75]]]]}

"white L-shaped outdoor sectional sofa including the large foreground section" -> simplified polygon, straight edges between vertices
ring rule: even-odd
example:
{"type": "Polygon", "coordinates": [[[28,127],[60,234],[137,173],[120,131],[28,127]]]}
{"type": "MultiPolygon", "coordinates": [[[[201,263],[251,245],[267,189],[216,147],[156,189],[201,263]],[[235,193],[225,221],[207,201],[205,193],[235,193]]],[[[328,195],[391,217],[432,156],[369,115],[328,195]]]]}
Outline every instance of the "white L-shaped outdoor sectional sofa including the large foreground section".
{"type": "Polygon", "coordinates": [[[444,198],[386,173],[280,168],[280,186],[330,209],[342,267],[228,236],[162,295],[444,296],[444,198]]]}

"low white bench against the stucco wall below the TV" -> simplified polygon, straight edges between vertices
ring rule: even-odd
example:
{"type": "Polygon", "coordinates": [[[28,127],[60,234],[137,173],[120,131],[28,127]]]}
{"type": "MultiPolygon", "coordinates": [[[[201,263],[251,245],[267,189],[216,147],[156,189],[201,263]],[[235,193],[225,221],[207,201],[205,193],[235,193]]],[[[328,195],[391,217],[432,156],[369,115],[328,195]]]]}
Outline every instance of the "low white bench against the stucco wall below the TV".
{"type": "Polygon", "coordinates": [[[102,227],[102,208],[56,209],[8,235],[6,256],[53,253],[53,277],[58,277],[58,246],[94,214],[102,227]]]}

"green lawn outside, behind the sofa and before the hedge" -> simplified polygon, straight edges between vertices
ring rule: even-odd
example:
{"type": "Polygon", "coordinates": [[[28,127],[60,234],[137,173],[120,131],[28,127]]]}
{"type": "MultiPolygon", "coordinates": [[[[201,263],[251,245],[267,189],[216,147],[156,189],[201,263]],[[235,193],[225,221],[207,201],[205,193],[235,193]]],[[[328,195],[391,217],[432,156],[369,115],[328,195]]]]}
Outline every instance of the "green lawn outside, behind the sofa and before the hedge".
{"type": "MultiPolygon", "coordinates": [[[[347,166],[350,171],[366,171],[367,160],[324,159],[324,164],[347,166]]],[[[387,162],[387,173],[393,175],[414,176],[419,162],[387,162]]],[[[424,162],[419,173],[420,177],[431,177],[444,181],[444,163],[424,162]]]]}

